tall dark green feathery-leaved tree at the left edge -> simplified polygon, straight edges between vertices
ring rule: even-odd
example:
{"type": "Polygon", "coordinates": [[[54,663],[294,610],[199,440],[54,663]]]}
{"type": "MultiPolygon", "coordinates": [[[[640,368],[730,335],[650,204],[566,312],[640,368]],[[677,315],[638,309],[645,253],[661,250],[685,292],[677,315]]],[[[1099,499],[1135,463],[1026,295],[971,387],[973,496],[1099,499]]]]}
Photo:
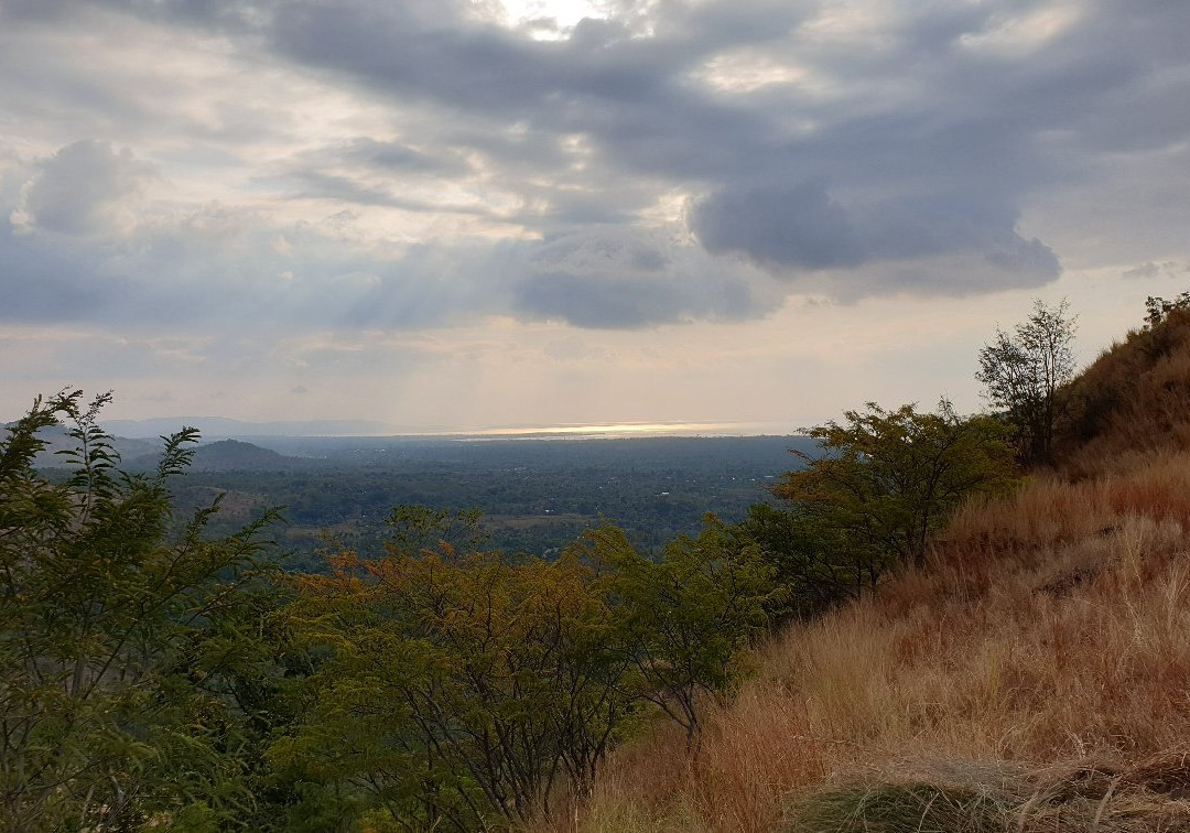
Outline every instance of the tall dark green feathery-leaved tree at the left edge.
{"type": "Polygon", "coordinates": [[[244,624],[261,613],[256,565],[271,515],[208,540],[213,505],[167,540],[167,483],[196,432],[163,438],[152,472],[121,472],[96,426],[109,399],[38,399],[0,441],[5,829],[209,828],[255,802],[251,756],[239,752],[264,672],[244,624]],[[77,447],[73,475],[55,486],[32,462],[38,432],[62,419],[77,447]]]}

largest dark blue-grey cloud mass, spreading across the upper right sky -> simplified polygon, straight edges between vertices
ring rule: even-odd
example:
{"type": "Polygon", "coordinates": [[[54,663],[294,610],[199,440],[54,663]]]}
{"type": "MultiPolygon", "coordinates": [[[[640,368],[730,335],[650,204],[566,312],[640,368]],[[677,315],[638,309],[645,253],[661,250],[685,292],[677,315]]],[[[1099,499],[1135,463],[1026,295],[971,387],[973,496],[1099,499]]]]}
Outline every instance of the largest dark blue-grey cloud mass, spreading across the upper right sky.
{"type": "MultiPolygon", "coordinates": [[[[1155,101],[1138,104],[1132,93],[1158,71],[1145,51],[1151,40],[1184,65],[1167,32],[1171,24],[1178,31],[1177,24],[1190,23],[1186,12],[1155,4],[1094,6],[1078,10],[1084,14],[1071,31],[1023,56],[995,52],[997,37],[1014,37],[997,26],[1040,4],[925,4],[916,15],[907,10],[873,49],[832,52],[808,44],[815,69],[840,83],[872,76],[896,80],[903,89],[888,102],[865,101],[862,93],[820,101],[789,90],[789,112],[818,123],[794,139],[782,138],[782,113],[771,100],[716,95],[683,74],[724,50],[785,37],[812,17],[814,4],[796,11],[746,2],[683,7],[660,18],[652,38],[628,37],[622,23],[587,20],[560,43],[534,43],[494,27],[438,29],[440,20],[419,31],[380,6],[343,14],[303,4],[273,37],[290,58],[346,73],[374,89],[459,108],[469,118],[527,121],[545,134],[582,133],[594,149],[593,168],[602,174],[701,186],[706,196],[694,203],[689,221],[710,252],[744,255],[790,280],[802,270],[956,252],[1004,270],[1002,281],[990,270],[984,286],[956,283],[956,292],[967,293],[1022,280],[1036,286],[1059,273],[1056,253],[1016,230],[1031,194],[1071,176],[1077,165],[1047,152],[1044,138],[1063,130],[1098,134],[1079,136],[1085,144],[1123,138],[1113,136],[1119,131],[1102,113],[1104,104],[1139,111],[1134,119],[1158,123],[1165,136],[1184,126],[1186,117],[1171,115],[1155,101]],[[1115,21],[1125,17],[1128,33],[1121,38],[1115,21]],[[979,38],[989,44],[983,51],[979,38]]],[[[788,46],[795,56],[797,40],[794,36],[788,46]]],[[[501,156],[499,146],[478,144],[501,156]]],[[[601,189],[588,184],[594,205],[601,189]]],[[[607,205],[574,213],[559,201],[544,221],[605,218],[615,219],[607,205]]],[[[903,269],[889,274],[888,289],[904,289],[906,282],[892,277],[903,269]]],[[[600,286],[609,284],[590,290],[600,286]]],[[[925,278],[920,286],[947,289],[925,278]]]]}

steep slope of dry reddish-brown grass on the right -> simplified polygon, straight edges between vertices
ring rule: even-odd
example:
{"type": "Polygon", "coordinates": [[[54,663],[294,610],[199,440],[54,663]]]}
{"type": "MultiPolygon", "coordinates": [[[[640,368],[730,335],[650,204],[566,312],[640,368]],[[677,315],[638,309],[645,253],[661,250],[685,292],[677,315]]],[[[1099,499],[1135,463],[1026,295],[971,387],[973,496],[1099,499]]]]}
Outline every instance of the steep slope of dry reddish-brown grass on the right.
{"type": "Polygon", "coordinates": [[[1190,314],[1071,388],[1057,471],[764,647],[558,829],[1190,829],[1190,314]]]}

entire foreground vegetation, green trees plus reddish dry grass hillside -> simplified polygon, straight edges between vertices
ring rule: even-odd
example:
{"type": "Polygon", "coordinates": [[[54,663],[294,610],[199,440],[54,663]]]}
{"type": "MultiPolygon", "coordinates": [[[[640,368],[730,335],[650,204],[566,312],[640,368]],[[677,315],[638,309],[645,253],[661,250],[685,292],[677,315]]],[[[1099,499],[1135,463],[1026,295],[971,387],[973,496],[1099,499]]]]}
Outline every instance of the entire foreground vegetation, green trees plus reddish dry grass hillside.
{"type": "Polygon", "coordinates": [[[1039,302],[981,353],[1000,413],[847,411],[779,506],[656,552],[396,506],[287,571],[257,499],[180,503],[196,431],[125,470],[109,394],[39,399],[0,438],[0,829],[1190,831],[1188,308],[1076,378],[1039,302]]]}

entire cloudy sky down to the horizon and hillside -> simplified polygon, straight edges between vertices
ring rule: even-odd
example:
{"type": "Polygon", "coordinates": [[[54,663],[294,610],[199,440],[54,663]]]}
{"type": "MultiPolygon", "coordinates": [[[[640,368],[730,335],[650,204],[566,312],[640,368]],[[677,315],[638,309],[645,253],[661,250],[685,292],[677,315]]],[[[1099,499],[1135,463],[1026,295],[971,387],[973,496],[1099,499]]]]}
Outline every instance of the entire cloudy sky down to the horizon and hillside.
{"type": "Polygon", "coordinates": [[[0,0],[0,418],[791,431],[1190,289],[1185,0],[0,0]]]}

